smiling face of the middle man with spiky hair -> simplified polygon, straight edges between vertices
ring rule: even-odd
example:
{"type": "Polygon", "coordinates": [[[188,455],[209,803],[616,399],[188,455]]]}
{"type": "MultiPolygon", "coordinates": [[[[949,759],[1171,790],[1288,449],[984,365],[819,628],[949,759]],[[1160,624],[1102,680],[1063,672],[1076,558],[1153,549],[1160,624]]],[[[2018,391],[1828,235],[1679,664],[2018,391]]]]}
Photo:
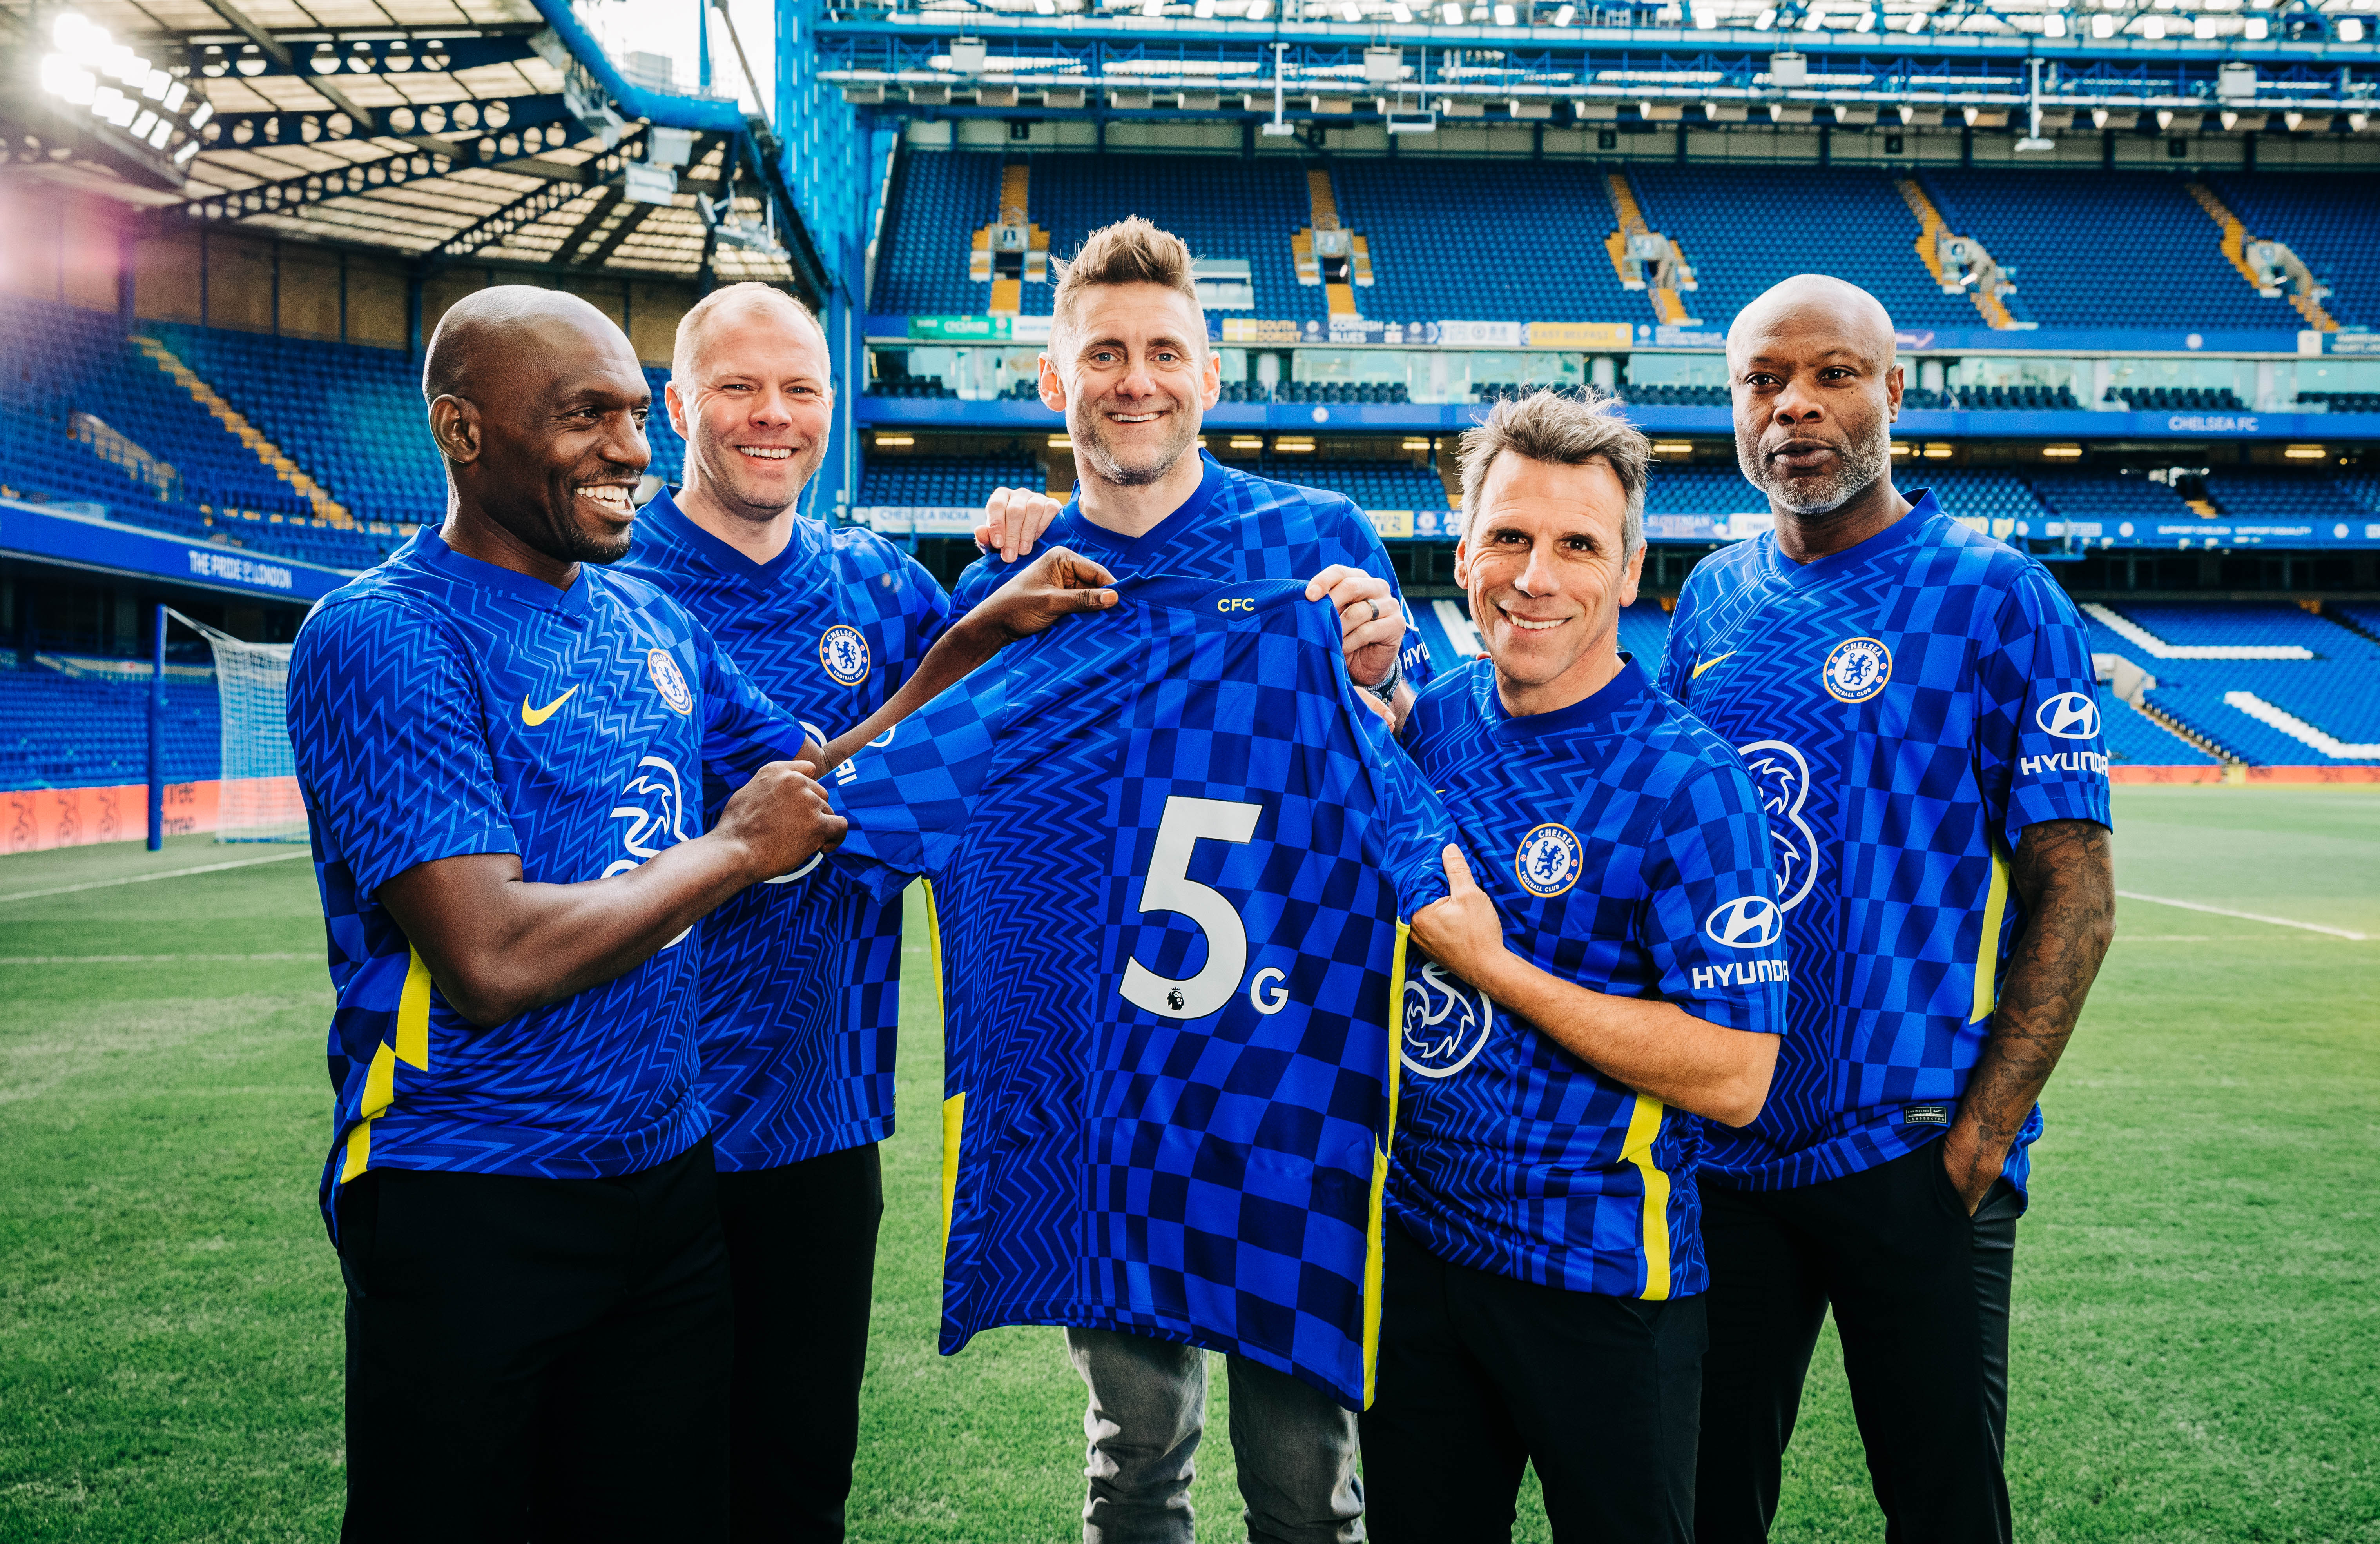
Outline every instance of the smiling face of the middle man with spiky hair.
{"type": "Polygon", "coordinates": [[[1123,488],[1180,465],[1221,391],[1207,319],[1161,284],[1083,291],[1042,355],[1042,403],[1066,415],[1073,465],[1123,488]]]}

